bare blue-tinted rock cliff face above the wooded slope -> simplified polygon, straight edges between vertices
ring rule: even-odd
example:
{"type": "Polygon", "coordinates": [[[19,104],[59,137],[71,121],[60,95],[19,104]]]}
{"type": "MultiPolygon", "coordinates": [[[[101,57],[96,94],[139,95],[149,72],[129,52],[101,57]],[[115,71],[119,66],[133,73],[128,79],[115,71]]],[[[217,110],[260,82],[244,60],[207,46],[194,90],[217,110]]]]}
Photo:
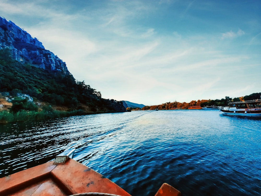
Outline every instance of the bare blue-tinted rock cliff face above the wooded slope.
{"type": "Polygon", "coordinates": [[[66,63],[54,53],[46,50],[37,38],[0,17],[0,49],[9,48],[13,58],[20,62],[30,62],[35,67],[70,74],[66,63]]]}

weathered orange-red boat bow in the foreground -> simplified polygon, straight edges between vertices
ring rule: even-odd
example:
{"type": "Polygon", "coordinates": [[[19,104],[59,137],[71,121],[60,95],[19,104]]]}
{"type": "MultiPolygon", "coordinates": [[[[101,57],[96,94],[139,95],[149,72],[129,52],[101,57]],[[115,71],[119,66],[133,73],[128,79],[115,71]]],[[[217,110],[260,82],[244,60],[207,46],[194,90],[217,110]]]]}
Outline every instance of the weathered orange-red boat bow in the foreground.
{"type": "MultiPolygon", "coordinates": [[[[110,195],[131,196],[101,174],[73,160],[75,149],[68,149],[54,161],[0,178],[0,195],[110,195]]],[[[180,196],[164,183],[155,196],[180,196]]]]}

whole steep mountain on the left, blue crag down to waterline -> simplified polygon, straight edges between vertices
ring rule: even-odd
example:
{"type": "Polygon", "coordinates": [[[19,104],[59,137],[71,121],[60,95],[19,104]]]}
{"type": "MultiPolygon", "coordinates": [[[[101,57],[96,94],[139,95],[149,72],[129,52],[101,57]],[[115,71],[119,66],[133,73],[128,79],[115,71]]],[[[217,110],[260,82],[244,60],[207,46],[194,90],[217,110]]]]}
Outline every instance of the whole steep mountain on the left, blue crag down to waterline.
{"type": "Polygon", "coordinates": [[[0,114],[0,123],[126,112],[126,108],[123,102],[104,99],[84,81],[75,80],[65,62],[37,38],[0,17],[1,112],[5,115],[0,114]],[[18,112],[25,116],[17,116],[18,112]]]}

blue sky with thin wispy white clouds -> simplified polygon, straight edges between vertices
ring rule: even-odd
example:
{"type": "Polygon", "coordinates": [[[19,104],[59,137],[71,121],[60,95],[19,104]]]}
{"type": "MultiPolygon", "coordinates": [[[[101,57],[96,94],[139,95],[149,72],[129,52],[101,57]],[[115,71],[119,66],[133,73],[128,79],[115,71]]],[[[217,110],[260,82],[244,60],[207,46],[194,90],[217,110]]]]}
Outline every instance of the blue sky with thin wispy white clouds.
{"type": "Polygon", "coordinates": [[[160,105],[261,92],[260,0],[0,0],[0,16],[105,99],[160,105]]]}

